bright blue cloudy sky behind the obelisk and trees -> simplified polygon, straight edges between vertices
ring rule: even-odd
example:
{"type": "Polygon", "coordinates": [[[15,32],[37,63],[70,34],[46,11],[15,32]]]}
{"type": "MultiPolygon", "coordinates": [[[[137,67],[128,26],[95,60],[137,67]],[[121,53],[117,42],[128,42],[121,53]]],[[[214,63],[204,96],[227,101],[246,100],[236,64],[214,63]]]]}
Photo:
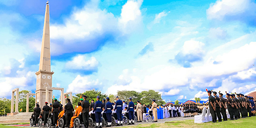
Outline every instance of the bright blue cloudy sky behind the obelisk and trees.
{"type": "MultiPolygon", "coordinates": [[[[156,90],[165,101],[256,84],[252,0],[50,1],[53,87],[156,90]]],[[[35,91],[46,1],[0,0],[0,96],[35,91]]],[[[60,92],[54,91],[55,96],[60,92]]]]}

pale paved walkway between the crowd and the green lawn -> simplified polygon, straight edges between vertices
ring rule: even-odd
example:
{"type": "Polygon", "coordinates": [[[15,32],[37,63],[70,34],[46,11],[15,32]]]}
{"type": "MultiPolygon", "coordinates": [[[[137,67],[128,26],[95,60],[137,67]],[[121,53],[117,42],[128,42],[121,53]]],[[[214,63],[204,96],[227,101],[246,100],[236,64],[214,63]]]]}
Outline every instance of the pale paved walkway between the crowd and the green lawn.
{"type": "MultiPolygon", "coordinates": [[[[154,122],[154,123],[165,123],[165,122],[169,122],[169,121],[178,121],[178,120],[193,120],[194,117],[175,117],[175,118],[164,118],[164,119],[160,119],[158,120],[158,122],[154,122]]],[[[138,124],[147,124],[147,123],[153,123],[153,122],[140,122],[140,123],[135,123],[134,125],[138,125],[138,124]]],[[[123,126],[127,126],[127,125],[123,125],[123,126]]],[[[132,126],[132,125],[131,125],[132,126]]],[[[30,127],[30,126],[19,126],[19,127],[30,127]]],[[[122,127],[122,126],[112,126],[112,127],[122,127]]]]}

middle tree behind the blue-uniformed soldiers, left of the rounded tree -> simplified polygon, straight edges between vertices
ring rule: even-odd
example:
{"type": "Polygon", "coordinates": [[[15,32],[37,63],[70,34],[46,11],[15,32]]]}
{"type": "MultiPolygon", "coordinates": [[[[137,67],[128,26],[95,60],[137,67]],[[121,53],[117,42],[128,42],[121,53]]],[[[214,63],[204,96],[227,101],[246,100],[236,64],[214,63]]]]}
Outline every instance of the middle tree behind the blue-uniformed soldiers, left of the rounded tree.
{"type": "Polygon", "coordinates": [[[137,102],[137,100],[141,99],[141,96],[139,94],[140,93],[136,91],[127,91],[127,90],[117,91],[117,96],[121,100],[125,100],[127,102],[129,102],[130,97],[132,98],[133,102],[137,102]]]}

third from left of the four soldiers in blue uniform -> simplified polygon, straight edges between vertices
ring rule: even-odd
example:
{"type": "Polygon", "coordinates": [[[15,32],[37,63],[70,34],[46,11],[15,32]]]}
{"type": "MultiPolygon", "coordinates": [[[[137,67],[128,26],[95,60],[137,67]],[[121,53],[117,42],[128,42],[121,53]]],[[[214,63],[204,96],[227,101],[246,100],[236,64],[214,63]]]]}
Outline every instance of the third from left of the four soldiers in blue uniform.
{"type": "Polygon", "coordinates": [[[115,110],[116,110],[116,115],[117,115],[116,126],[123,125],[123,118],[122,118],[123,102],[118,98],[118,96],[116,97],[116,104],[115,104],[114,111],[115,110]]]}

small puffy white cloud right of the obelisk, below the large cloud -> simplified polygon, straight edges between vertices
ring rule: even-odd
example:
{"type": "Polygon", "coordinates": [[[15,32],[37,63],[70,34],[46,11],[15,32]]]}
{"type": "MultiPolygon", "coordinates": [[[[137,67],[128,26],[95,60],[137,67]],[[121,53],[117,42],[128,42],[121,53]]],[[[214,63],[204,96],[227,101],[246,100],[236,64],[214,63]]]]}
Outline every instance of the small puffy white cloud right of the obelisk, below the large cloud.
{"type": "Polygon", "coordinates": [[[85,55],[77,55],[73,60],[66,63],[67,69],[74,70],[97,70],[99,62],[95,57],[91,57],[89,60],[86,59],[85,55]]]}

